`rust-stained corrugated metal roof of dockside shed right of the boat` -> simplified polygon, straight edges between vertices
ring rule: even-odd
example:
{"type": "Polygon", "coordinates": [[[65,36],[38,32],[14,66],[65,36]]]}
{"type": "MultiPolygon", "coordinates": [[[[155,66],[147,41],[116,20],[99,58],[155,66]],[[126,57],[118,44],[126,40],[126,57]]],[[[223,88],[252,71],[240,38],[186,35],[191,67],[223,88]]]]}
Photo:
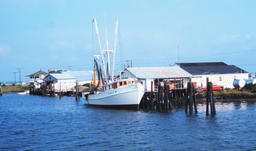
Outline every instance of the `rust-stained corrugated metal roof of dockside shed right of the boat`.
{"type": "Polygon", "coordinates": [[[180,67],[134,67],[127,68],[137,78],[190,78],[195,77],[180,67]]]}

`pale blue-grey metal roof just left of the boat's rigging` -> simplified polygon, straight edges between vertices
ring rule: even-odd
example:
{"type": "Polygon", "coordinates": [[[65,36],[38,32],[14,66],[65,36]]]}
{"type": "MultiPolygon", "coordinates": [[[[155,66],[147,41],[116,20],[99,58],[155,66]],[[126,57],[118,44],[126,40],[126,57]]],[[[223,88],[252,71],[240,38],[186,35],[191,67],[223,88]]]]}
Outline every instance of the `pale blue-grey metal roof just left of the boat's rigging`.
{"type": "MultiPolygon", "coordinates": [[[[70,75],[76,77],[79,81],[93,80],[93,71],[67,71],[67,72],[63,71],[61,73],[62,74],[70,74],[70,75]]],[[[98,79],[98,76],[96,76],[96,79],[98,79]]]]}

